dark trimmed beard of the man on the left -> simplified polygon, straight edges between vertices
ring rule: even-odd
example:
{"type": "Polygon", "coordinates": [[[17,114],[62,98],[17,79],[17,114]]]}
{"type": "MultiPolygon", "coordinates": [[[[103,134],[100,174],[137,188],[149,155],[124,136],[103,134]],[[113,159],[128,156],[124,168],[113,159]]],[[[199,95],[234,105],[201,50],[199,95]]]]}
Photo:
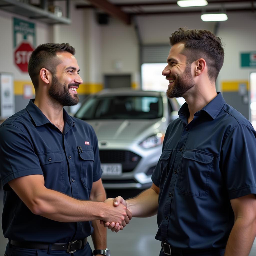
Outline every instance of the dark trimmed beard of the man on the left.
{"type": "Polygon", "coordinates": [[[69,88],[71,86],[79,87],[79,84],[70,83],[66,86],[66,84],[60,83],[56,76],[53,76],[48,93],[52,99],[60,103],[62,106],[74,106],[79,102],[79,97],[77,94],[71,94],[69,92],[69,88]]]}

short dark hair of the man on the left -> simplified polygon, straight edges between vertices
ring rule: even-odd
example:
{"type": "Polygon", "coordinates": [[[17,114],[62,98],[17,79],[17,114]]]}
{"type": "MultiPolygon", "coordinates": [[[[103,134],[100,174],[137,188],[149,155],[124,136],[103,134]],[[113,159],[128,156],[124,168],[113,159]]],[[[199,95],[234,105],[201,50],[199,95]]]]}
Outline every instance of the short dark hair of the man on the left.
{"type": "Polygon", "coordinates": [[[42,68],[48,69],[52,75],[55,75],[56,66],[60,64],[60,62],[56,58],[56,53],[61,51],[67,51],[71,54],[75,54],[76,50],[69,44],[41,44],[36,47],[36,49],[32,52],[29,62],[28,62],[28,74],[31,78],[31,81],[35,87],[35,90],[38,89],[38,75],[39,71],[42,68]]]}

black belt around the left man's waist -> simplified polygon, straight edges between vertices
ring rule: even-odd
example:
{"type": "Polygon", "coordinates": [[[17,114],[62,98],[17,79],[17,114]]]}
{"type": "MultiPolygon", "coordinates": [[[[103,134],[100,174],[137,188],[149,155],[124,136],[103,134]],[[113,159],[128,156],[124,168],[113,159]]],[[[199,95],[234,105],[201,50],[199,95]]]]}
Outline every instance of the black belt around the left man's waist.
{"type": "MultiPolygon", "coordinates": [[[[65,250],[68,253],[73,253],[76,250],[83,249],[87,243],[87,237],[78,240],[72,241],[69,243],[53,243],[51,244],[51,250],[65,250]]],[[[49,243],[41,243],[41,242],[19,242],[13,241],[10,239],[10,244],[21,247],[21,248],[29,248],[29,249],[41,249],[41,250],[48,250],[50,244],[49,243]]]]}

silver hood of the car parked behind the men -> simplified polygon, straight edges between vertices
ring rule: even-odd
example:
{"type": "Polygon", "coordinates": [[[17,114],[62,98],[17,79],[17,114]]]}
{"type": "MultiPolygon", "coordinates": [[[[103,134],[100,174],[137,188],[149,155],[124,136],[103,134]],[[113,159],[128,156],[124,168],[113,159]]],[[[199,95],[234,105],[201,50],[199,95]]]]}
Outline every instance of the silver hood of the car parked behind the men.
{"type": "Polygon", "coordinates": [[[98,140],[140,140],[152,135],[162,125],[160,119],[152,120],[86,120],[92,125],[98,140]]]}

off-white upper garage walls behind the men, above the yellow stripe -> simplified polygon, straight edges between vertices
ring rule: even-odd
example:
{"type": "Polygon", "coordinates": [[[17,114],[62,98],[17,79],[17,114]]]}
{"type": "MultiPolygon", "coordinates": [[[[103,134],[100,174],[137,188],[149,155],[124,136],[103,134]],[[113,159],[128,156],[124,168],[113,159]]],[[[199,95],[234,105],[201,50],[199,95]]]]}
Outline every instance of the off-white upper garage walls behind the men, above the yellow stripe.
{"type": "MultiPolygon", "coordinates": [[[[70,3],[71,25],[49,26],[23,16],[0,10],[0,72],[13,72],[15,80],[29,80],[14,65],[13,17],[36,24],[36,43],[68,42],[76,48],[80,75],[85,83],[102,83],[104,74],[131,74],[139,84],[139,45],[134,24],[125,25],[110,18],[108,25],[99,25],[94,10],[76,9],[70,3]],[[115,63],[120,68],[115,67],[115,63]]],[[[200,14],[137,16],[142,44],[168,44],[169,36],[179,27],[214,31],[213,22],[202,22],[200,14]]],[[[218,36],[225,43],[225,60],[219,74],[217,89],[223,80],[248,80],[250,71],[240,67],[240,52],[256,50],[256,15],[249,12],[228,13],[220,22],[218,36]]],[[[166,56],[168,52],[166,52],[166,56]]]]}

